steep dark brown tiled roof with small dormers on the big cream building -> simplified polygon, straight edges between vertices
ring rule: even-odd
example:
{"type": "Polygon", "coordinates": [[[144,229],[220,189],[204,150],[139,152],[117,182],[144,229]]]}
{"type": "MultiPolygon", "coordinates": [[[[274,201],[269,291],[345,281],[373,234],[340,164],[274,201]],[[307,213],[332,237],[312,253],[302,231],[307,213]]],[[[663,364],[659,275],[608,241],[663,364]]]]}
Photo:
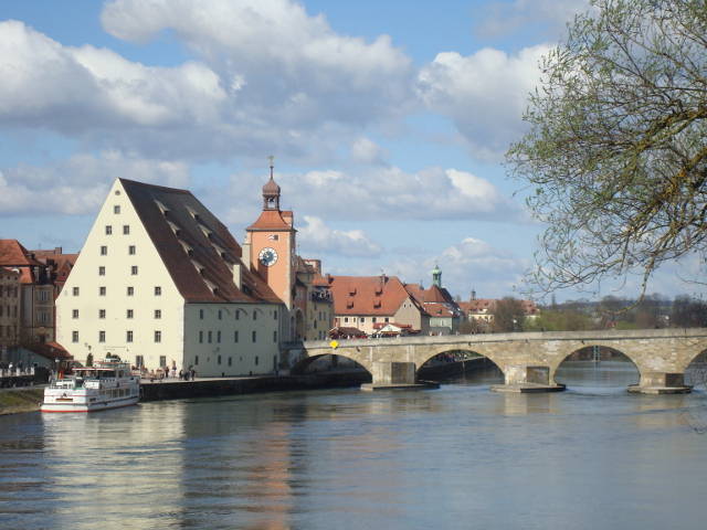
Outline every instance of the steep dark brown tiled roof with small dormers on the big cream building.
{"type": "Polygon", "coordinates": [[[265,280],[244,266],[244,288],[235,286],[230,266],[243,265],[241,246],[189,191],[119,180],[187,301],[281,303],[265,280]],[[191,248],[191,255],[187,247],[191,248]],[[193,262],[203,267],[203,274],[193,262]],[[215,287],[215,293],[209,284],[215,287]]]}

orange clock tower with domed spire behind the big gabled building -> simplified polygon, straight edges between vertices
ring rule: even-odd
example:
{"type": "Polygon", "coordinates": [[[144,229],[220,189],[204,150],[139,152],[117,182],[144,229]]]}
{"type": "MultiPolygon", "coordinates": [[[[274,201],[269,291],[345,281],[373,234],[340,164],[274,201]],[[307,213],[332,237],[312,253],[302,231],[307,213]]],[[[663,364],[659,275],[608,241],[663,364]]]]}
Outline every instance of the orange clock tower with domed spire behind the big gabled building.
{"type": "Polygon", "coordinates": [[[243,257],[258,272],[287,311],[293,308],[295,276],[295,234],[293,212],[279,210],[279,186],[273,179],[273,157],[270,157],[270,180],[263,187],[263,212],[245,229],[243,257]]]}

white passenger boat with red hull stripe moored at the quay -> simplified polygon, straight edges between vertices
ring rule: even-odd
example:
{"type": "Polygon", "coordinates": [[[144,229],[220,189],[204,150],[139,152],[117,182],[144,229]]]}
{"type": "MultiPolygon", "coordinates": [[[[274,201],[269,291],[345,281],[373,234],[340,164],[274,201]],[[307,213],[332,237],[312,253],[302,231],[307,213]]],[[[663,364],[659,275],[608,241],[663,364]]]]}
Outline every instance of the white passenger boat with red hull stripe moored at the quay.
{"type": "Polygon", "coordinates": [[[73,371],[44,389],[42,412],[107,411],[140,400],[140,377],[133,374],[128,362],[110,358],[73,371]]]}

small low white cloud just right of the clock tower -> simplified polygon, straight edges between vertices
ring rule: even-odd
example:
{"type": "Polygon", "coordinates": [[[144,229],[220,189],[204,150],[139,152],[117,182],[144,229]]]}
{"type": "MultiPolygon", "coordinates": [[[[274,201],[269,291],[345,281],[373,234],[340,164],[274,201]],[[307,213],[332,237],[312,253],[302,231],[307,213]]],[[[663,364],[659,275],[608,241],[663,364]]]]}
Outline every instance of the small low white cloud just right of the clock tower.
{"type": "Polygon", "coordinates": [[[361,230],[334,230],[309,215],[304,220],[307,224],[297,233],[303,255],[377,258],[383,253],[383,247],[361,230]]]}

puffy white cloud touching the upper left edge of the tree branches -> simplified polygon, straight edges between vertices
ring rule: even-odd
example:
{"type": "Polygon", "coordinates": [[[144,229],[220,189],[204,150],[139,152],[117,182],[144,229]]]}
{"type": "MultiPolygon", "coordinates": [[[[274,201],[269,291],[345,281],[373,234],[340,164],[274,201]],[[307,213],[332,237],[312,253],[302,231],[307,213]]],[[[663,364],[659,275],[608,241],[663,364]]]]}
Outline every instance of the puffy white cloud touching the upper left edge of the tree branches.
{"type": "Polygon", "coordinates": [[[451,118],[475,158],[498,161],[523,131],[521,114],[539,80],[538,62],[549,45],[509,56],[483,49],[464,57],[440,53],[422,67],[418,95],[432,112],[451,118]]]}

